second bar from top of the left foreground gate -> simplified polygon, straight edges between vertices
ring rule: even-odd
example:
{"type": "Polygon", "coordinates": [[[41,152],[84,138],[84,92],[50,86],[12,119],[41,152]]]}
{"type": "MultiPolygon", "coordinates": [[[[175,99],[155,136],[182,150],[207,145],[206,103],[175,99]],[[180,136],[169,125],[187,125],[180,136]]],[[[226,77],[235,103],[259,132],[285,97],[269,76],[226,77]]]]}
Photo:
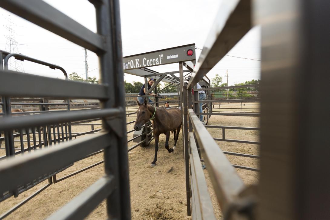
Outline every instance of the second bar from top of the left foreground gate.
{"type": "Polygon", "coordinates": [[[54,79],[15,71],[5,72],[2,70],[0,70],[0,78],[2,81],[6,81],[6,83],[0,86],[1,95],[109,99],[108,86],[106,85],[54,79]]]}

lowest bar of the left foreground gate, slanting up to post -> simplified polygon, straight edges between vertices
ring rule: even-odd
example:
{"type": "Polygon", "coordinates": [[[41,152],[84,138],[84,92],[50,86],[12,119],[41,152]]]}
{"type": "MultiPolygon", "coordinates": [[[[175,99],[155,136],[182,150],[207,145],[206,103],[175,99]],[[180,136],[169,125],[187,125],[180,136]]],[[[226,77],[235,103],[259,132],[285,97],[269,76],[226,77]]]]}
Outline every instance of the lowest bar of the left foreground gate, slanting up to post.
{"type": "Polygon", "coordinates": [[[84,219],[98,204],[113,192],[114,185],[114,177],[112,175],[101,177],[68,204],[52,214],[48,220],[84,219]]]}

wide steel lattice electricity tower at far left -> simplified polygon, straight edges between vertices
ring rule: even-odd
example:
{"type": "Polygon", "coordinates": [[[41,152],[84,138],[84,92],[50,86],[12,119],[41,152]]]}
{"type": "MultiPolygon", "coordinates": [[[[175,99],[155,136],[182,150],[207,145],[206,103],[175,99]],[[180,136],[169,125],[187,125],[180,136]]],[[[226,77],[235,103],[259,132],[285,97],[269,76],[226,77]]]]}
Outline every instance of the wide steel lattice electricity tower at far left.
{"type": "MultiPolygon", "coordinates": [[[[10,15],[8,15],[8,17],[7,17],[7,15],[4,17],[7,20],[7,25],[4,25],[4,27],[8,31],[8,34],[5,35],[5,38],[7,39],[5,51],[10,52],[10,53],[18,53],[17,45],[19,45],[19,44],[15,39],[16,33],[15,33],[15,30],[13,29],[13,26],[15,26],[15,23],[11,20],[10,15]]],[[[8,69],[25,73],[22,61],[16,60],[14,57],[12,57],[8,60],[8,69]]]]}

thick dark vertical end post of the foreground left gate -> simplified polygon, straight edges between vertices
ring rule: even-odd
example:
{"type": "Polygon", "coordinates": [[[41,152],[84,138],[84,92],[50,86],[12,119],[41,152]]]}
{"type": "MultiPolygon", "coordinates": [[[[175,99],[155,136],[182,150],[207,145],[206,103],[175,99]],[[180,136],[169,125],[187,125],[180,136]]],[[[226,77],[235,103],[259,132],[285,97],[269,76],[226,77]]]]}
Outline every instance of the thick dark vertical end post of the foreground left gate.
{"type": "Polygon", "coordinates": [[[122,45],[120,30],[119,0],[93,1],[96,8],[97,32],[104,36],[106,52],[98,54],[100,60],[100,79],[109,85],[108,100],[102,100],[102,108],[121,108],[118,123],[102,120],[102,127],[116,129],[117,134],[109,132],[114,139],[111,147],[105,148],[105,172],[115,176],[115,191],[107,198],[108,217],[131,219],[128,153],[126,138],[125,91],[122,66],[122,45]],[[114,125],[115,123],[115,125],[114,125]]]}

